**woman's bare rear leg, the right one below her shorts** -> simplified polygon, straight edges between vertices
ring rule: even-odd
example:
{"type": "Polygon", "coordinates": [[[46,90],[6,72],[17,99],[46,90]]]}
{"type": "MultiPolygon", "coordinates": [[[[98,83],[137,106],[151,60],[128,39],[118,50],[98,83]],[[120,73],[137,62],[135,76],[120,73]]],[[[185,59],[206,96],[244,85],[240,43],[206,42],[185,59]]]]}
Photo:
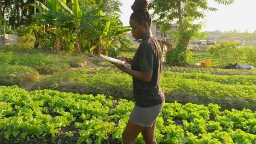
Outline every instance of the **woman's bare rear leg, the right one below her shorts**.
{"type": "Polygon", "coordinates": [[[144,130],[141,131],[146,144],[156,144],[155,124],[156,124],[156,121],[154,122],[151,128],[145,128],[144,130]]]}

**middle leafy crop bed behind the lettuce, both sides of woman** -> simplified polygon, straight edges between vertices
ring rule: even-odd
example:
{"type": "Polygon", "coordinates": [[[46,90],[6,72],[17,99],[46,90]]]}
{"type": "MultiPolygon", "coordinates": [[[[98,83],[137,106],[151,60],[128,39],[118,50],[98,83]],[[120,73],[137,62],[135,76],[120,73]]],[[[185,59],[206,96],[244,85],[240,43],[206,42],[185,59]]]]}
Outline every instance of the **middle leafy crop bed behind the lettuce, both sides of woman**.
{"type": "MultiPolygon", "coordinates": [[[[79,69],[46,77],[32,89],[54,89],[94,95],[101,93],[112,95],[115,99],[131,100],[132,77],[103,64],[103,67],[79,69]]],[[[167,102],[217,103],[223,109],[235,107],[242,110],[246,107],[255,110],[255,81],[255,75],[174,73],[172,70],[164,70],[160,85],[165,89],[167,102]]]]}

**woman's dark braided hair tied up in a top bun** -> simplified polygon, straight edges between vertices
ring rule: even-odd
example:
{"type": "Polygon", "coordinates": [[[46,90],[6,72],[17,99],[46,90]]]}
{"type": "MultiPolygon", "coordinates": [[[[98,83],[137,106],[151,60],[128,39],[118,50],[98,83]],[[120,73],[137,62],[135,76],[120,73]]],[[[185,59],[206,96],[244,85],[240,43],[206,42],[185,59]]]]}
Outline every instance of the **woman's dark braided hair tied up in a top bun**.
{"type": "Polygon", "coordinates": [[[148,26],[151,26],[152,17],[148,12],[148,0],[135,0],[131,9],[133,10],[133,13],[130,16],[130,19],[139,23],[147,22],[148,26]]]}

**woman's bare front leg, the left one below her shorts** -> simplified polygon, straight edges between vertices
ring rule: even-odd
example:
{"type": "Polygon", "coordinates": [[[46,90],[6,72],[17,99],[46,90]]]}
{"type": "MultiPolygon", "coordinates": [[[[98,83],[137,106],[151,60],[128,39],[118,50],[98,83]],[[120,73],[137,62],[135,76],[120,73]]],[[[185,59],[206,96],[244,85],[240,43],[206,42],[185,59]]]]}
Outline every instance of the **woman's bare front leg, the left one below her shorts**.
{"type": "Polygon", "coordinates": [[[125,130],[122,134],[124,144],[135,143],[135,139],[141,131],[143,131],[145,127],[141,127],[132,123],[130,120],[128,121],[125,130]]]}

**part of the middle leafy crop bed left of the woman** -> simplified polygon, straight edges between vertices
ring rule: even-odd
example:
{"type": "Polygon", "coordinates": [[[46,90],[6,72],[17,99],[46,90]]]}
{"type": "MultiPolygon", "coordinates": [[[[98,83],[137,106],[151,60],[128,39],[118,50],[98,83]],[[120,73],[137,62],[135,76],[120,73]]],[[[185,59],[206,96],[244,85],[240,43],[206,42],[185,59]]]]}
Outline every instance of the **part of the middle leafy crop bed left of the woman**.
{"type": "Polygon", "coordinates": [[[132,99],[132,80],[129,75],[121,73],[113,67],[79,69],[63,72],[57,76],[45,77],[33,89],[56,89],[81,94],[104,93],[115,99],[132,99]],[[53,88],[53,83],[58,86],[53,88]]]}

